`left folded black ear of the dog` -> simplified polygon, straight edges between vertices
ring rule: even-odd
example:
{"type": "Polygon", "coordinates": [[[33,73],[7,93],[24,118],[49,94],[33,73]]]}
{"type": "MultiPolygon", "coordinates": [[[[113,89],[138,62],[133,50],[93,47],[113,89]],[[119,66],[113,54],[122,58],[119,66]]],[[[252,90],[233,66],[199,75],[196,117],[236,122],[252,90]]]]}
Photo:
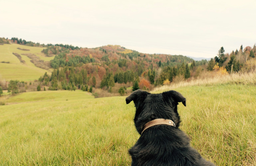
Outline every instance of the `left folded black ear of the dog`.
{"type": "Polygon", "coordinates": [[[138,103],[142,103],[146,99],[148,94],[150,93],[142,90],[136,90],[125,99],[126,104],[129,104],[131,101],[133,101],[135,106],[137,107],[138,103]]]}

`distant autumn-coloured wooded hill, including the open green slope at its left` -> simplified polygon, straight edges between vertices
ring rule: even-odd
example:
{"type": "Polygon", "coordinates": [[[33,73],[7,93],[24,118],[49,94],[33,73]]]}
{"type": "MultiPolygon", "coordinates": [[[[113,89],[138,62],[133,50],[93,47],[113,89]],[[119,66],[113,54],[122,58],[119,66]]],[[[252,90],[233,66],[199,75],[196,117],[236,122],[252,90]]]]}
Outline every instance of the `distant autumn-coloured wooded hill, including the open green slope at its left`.
{"type": "Polygon", "coordinates": [[[94,87],[118,94],[120,87],[131,90],[136,82],[137,87],[147,90],[165,80],[172,82],[176,75],[187,79],[190,70],[194,72],[195,66],[206,63],[183,55],[141,53],[120,45],[79,48],[18,38],[2,41],[0,79],[37,80],[49,90],[94,87]]]}

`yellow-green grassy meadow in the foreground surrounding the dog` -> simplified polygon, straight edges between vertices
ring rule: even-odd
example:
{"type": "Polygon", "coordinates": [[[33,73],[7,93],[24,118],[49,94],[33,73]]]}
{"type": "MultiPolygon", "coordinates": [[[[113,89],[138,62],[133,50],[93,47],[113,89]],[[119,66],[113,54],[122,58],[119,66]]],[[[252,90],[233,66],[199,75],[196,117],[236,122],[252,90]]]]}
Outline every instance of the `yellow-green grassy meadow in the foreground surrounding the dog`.
{"type": "MultiPolygon", "coordinates": [[[[168,89],[170,90],[170,89],[168,89]]],[[[175,88],[181,129],[216,165],[256,165],[256,89],[252,84],[175,88]]],[[[1,97],[0,165],[130,165],[139,138],[133,102],[94,99],[82,91],[27,92],[1,97]]]]}

